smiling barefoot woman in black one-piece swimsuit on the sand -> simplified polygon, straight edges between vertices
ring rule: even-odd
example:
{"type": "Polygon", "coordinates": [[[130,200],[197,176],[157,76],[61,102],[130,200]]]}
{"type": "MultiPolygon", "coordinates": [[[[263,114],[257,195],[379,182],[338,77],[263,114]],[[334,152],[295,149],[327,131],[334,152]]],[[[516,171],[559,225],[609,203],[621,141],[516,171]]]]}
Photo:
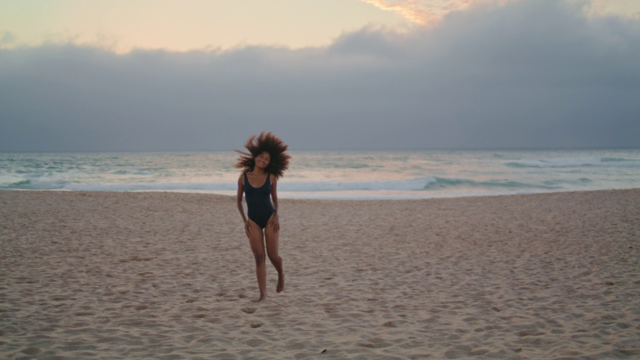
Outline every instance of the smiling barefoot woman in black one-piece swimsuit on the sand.
{"type": "Polygon", "coordinates": [[[237,206],[244,220],[244,232],[249,238],[255,258],[255,275],[260,290],[257,302],[260,302],[267,300],[265,240],[266,254],[278,272],[276,292],[284,290],[282,258],[278,255],[280,220],[276,186],[278,178],[289,168],[291,156],[285,152],[287,145],[280,138],[264,131],[259,136],[251,136],[244,146],[249,152],[236,150],[242,154],[236,167],[243,170],[243,174],[238,178],[237,206]],[[246,195],[246,217],[242,205],[243,193],[246,195]]]}

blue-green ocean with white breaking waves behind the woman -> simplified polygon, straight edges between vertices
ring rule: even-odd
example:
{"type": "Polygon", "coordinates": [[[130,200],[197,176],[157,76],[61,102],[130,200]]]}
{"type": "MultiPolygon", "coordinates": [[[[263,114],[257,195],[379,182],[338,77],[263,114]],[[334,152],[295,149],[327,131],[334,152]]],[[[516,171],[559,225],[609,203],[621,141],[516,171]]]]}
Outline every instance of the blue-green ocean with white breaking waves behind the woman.
{"type": "MultiPolygon", "coordinates": [[[[291,151],[282,199],[427,199],[640,188],[640,149],[291,151]]],[[[0,153],[0,190],[235,195],[234,151],[0,153]]]]}

